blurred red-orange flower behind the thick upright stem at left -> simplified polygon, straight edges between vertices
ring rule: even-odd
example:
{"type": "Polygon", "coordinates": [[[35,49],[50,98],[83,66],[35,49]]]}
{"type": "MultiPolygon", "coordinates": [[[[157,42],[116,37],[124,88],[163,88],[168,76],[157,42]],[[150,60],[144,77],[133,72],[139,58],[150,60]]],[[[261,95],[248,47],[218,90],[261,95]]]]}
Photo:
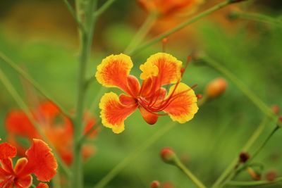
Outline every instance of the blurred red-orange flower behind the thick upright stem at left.
{"type": "MultiPolygon", "coordinates": [[[[59,108],[50,101],[39,104],[39,107],[34,109],[32,114],[63,161],[70,165],[73,160],[73,125],[71,120],[63,116],[59,108]]],[[[90,131],[94,124],[95,119],[87,115],[85,117],[85,133],[90,131]]],[[[30,141],[33,138],[41,138],[27,115],[20,110],[13,110],[8,113],[6,129],[8,131],[8,142],[17,147],[20,155],[24,154],[26,147],[18,142],[18,138],[23,137],[30,141]]],[[[93,137],[96,133],[97,131],[94,131],[91,136],[93,137]]],[[[87,158],[93,151],[92,146],[85,145],[82,149],[82,155],[87,158]]]]}

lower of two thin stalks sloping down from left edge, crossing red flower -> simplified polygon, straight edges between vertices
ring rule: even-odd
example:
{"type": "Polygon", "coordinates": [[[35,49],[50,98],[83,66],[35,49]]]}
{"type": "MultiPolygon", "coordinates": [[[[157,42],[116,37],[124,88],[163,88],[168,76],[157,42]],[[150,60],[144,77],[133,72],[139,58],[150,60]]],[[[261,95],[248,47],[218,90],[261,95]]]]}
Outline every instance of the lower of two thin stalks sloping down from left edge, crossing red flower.
{"type": "Polygon", "coordinates": [[[62,170],[66,173],[66,175],[68,175],[68,176],[71,175],[71,172],[68,169],[68,167],[66,166],[66,164],[63,161],[61,161],[61,158],[59,157],[58,153],[56,153],[56,149],[54,149],[53,144],[51,144],[49,142],[49,139],[47,139],[47,137],[42,132],[42,129],[41,129],[40,125],[33,119],[32,113],[30,112],[30,109],[27,107],[27,105],[25,104],[23,99],[20,98],[20,95],[18,94],[18,92],[16,92],[16,89],[13,88],[13,85],[8,80],[8,78],[6,77],[4,72],[1,70],[1,68],[0,68],[0,80],[4,84],[4,87],[6,87],[7,91],[11,94],[13,99],[16,101],[18,106],[27,115],[27,118],[30,120],[32,125],[35,126],[35,129],[37,130],[37,132],[39,132],[39,135],[42,137],[42,139],[44,139],[44,141],[47,142],[47,144],[51,147],[51,149],[53,150],[54,156],[56,157],[56,160],[58,161],[58,163],[61,166],[62,170]]]}

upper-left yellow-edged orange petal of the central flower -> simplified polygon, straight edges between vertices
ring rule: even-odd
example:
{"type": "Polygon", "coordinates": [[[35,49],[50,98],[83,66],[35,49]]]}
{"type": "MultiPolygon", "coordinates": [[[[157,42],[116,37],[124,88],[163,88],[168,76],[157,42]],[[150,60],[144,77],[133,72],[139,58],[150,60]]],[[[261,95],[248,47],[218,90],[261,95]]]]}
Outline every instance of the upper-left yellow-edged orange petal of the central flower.
{"type": "Polygon", "coordinates": [[[130,56],[125,54],[111,55],[97,66],[95,77],[104,87],[119,87],[128,92],[127,77],[133,68],[130,56]]]}

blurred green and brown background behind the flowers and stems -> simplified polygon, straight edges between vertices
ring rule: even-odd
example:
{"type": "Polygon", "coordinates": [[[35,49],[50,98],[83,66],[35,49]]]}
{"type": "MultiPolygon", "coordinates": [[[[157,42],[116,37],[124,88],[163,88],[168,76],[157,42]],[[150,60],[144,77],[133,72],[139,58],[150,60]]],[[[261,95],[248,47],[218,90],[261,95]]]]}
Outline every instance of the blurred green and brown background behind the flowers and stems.
{"type": "MultiPolygon", "coordinates": [[[[206,0],[198,12],[216,2],[219,1],[206,0]]],[[[103,1],[100,2],[102,3],[103,1]]],[[[250,20],[229,20],[226,15],[233,8],[278,18],[281,16],[282,2],[248,1],[223,8],[169,36],[166,51],[183,62],[191,51],[205,51],[237,75],[267,105],[282,106],[282,28],[250,20]]],[[[94,31],[94,46],[87,68],[88,77],[94,75],[96,66],[104,57],[119,54],[125,49],[146,15],[135,1],[121,0],[116,1],[102,15],[94,31]]],[[[188,17],[173,16],[159,20],[147,39],[174,27],[188,17]]],[[[63,1],[1,1],[0,51],[30,73],[63,106],[70,110],[74,108],[78,33],[63,1]]],[[[140,63],[144,63],[147,57],[158,51],[161,51],[161,43],[133,56],[133,74],[139,75],[140,63]]],[[[5,63],[0,61],[0,65],[25,101],[31,97],[28,94],[30,90],[33,92],[32,96],[44,100],[5,63]]],[[[190,85],[197,83],[195,91],[202,94],[207,83],[216,77],[222,75],[209,66],[192,63],[185,72],[183,82],[190,85]]],[[[191,122],[176,126],[161,137],[137,156],[106,187],[149,187],[152,180],[171,182],[179,188],[195,187],[178,169],[161,161],[159,151],[164,146],[173,148],[190,170],[209,187],[226,165],[238,155],[240,148],[264,118],[257,107],[232,82],[227,82],[228,89],[220,98],[202,106],[191,122]]],[[[93,101],[99,101],[99,94],[101,86],[92,82],[86,101],[90,113],[97,119],[98,103],[93,104],[93,101]]],[[[0,84],[2,139],[6,138],[6,114],[15,108],[18,106],[0,84]]],[[[125,131],[122,134],[114,134],[111,130],[101,127],[97,138],[92,141],[97,151],[85,161],[86,187],[93,187],[114,166],[170,121],[168,117],[164,117],[159,118],[156,125],[147,125],[140,113],[136,112],[125,121],[125,131]]],[[[258,144],[265,139],[274,125],[274,122],[269,121],[258,139],[258,144]]],[[[262,178],[272,169],[282,175],[281,140],[282,132],[278,132],[256,158],[255,161],[264,164],[262,178]]],[[[243,173],[238,180],[251,178],[247,173],[243,173]]]]}

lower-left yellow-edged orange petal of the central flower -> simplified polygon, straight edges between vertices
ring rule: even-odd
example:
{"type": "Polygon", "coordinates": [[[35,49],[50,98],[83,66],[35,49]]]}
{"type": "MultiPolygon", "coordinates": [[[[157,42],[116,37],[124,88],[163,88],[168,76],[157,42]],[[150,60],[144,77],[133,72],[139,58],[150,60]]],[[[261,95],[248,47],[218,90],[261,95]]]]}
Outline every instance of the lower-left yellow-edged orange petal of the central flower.
{"type": "Polygon", "coordinates": [[[99,108],[102,124],[111,128],[114,133],[121,133],[124,130],[124,120],[136,110],[137,104],[125,106],[121,104],[117,94],[109,92],[102,96],[99,108]]]}

